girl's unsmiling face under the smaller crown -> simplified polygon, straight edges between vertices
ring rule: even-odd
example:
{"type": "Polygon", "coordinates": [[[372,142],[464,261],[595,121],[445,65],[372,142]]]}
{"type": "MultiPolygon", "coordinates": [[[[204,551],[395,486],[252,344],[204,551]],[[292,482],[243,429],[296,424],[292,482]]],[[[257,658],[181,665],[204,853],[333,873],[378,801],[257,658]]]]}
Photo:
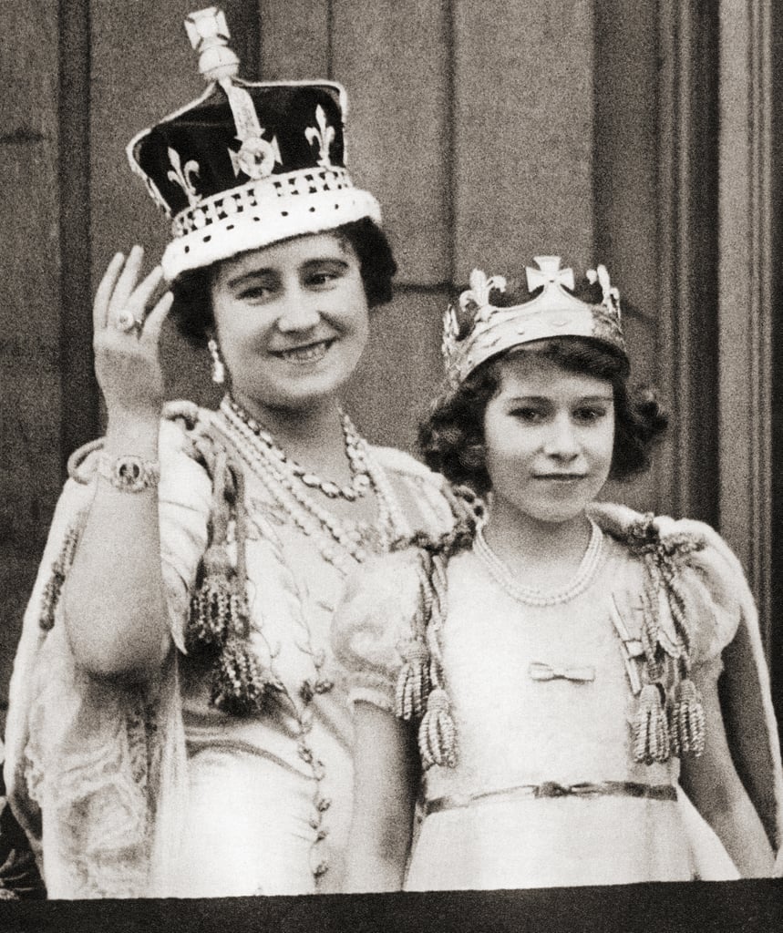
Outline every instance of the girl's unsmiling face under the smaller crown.
{"type": "Polygon", "coordinates": [[[510,356],[500,368],[500,388],[484,412],[493,511],[510,508],[536,522],[580,517],[608,479],[611,383],[536,353],[510,356]]]}

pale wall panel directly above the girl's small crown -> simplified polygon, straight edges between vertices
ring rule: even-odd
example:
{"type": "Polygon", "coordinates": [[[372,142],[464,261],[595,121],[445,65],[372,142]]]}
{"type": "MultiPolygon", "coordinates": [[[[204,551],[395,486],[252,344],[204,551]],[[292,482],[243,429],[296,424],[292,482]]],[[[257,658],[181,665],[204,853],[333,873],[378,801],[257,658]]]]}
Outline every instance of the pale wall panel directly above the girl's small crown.
{"type": "Polygon", "coordinates": [[[455,0],[455,269],[593,261],[593,4],[455,0]]]}

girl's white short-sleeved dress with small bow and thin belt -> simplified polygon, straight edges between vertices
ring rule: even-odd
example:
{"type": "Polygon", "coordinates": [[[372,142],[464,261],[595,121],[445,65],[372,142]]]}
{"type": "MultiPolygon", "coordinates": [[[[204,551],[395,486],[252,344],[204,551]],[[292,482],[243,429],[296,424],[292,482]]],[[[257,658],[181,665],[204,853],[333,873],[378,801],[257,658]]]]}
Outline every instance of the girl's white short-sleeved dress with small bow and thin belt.
{"type": "MultiPolygon", "coordinates": [[[[416,564],[410,550],[387,555],[351,583],[333,637],[353,671],[355,701],[394,709],[399,651],[417,606],[416,564]]],[[[736,569],[707,545],[692,555],[684,577],[691,605],[699,606],[695,666],[716,678],[721,649],[741,615],[732,590],[736,569]]],[[[451,558],[440,646],[457,763],[425,773],[424,821],[406,889],[737,877],[718,837],[678,787],[678,759],[653,765],[634,759],[635,697],[612,614],[638,634],[641,588],[641,564],[608,534],[587,589],[560,605],[518,602],[473,550],[451,558]],[[532,796],[529,787],[546,782],[564,788],[632,782],[673,787],[677,796],[532,796]]],[[[779,794],[779,752],[775,762],[779,794]]]]}

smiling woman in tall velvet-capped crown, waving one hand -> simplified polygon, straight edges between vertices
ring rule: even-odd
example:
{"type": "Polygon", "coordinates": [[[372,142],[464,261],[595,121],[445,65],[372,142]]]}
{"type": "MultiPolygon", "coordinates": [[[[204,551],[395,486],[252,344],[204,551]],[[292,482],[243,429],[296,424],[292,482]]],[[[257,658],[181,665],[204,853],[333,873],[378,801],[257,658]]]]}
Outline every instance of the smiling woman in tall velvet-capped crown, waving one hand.
{"type": "Polygon", "coordinates": [[[186,25],[211,83],[129,146],[175,237],[98,288],[106,435],[72,458],[13,677],[7,776],[51,897],[336,889],[331,614],[369,553],[452,522],[440,481],[339,408],[394,271],[342,89],[239,81],[222,15],[186,25]],[[228,392],[161,425],[171,309],[228,392]]]}

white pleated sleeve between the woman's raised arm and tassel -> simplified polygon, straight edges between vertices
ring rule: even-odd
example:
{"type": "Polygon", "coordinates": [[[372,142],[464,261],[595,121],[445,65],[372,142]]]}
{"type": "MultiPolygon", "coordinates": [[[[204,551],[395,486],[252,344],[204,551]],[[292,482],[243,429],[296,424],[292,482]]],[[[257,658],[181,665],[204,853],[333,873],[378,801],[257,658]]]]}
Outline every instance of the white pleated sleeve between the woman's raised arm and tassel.
{"type": "Polygon", "coordinates": [[[172,637],[176,647],[185,653],[189,594],[207,546],[212,481],[180,425],[161,423],[159,458],[161,569],[172,637]]]}

